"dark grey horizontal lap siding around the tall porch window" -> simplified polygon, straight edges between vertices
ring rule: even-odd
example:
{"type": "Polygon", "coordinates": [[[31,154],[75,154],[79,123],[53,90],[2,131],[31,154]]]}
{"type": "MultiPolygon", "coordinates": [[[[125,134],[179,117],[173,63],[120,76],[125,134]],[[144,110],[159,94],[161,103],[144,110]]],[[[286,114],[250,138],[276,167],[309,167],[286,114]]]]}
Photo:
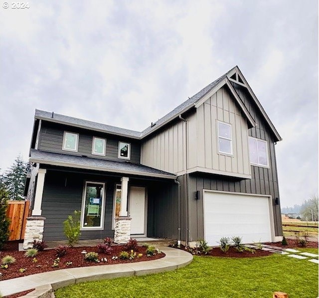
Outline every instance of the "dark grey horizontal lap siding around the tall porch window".
{"type": "MultiPolygon", "coordinates": [[[[80,239],[97,239],[113,237],[112,208],[115,180],[99,176],[70,174],[65,172],[47,171],[42,199],[42,216],[44,222],[43,237],[46,241],[65,240],[63,221],[74,210],[81,210],[84,181],[106,182],[106,204],[103,231],[81,231],[80,239]]],[[[121,183],[120,179],[118,183],[121,183]]]]}

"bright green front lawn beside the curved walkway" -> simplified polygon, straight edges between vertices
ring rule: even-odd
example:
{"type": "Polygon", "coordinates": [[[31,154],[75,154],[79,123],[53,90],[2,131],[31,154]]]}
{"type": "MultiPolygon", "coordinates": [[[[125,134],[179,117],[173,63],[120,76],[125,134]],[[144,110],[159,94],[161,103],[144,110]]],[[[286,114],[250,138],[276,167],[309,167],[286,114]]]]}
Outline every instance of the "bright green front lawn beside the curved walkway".
{"type": "Polygon", "coordinates": [[[288,293],[290,298],[318,297],[318,265],[275,254],[242,259],[195,256],[190,265],[176,271],[77,284],[61,288],[55,295],[270,298],[276,291],[288,293]]]}

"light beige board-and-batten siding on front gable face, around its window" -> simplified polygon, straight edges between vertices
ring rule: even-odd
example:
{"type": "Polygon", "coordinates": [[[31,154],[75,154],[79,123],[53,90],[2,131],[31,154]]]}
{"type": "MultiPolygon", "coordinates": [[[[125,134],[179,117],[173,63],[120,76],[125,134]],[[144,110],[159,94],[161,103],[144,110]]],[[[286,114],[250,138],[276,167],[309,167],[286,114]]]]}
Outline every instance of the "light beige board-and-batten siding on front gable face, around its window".
{"type": "Polygon", "coordinates": [[[222,87],[188,118],[188,169],[250,176],[248,124],[227,88],[222,87]],[[233,154],[218,152],[218,121],[231,125],[233,154]]]}

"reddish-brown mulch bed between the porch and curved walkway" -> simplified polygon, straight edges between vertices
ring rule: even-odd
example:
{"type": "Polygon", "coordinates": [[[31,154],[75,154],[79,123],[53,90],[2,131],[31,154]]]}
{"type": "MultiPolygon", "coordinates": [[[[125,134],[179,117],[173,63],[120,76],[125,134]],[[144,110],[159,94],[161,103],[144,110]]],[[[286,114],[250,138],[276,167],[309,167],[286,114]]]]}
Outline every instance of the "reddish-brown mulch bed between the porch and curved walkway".
{"type": "Polygon", "coordinates": [[[160,253],[152,257],[146,256],[146,247],[138,247],[135,251],[138,254],[143,254],[141,258],[135,258],[134,260],[112,260],[112,256],[119,256],[120,252],[124,251],[123,245],[115,245],[112,246],[112,253],[110,255],[106,255],[103,253],[99,253],[99,260],[102,258],[107,258],[107,262],[87,262],[83,260],[83,255],[81,252],[85,250],[86,252],[98,252],[96,247],[76,247],[76,248],[68,248],[68,252],[64,257],[60,258],[59,267],[52,267],[53,261],[56,259],[55,251],[45,250],[43,252],[39,252],[36,256],[37,262],[33,263],[33,258],[24,257],[25,252],[18,251],[18,244],[8,242],[3,250],[0,251],[0,259],[2,259],[6,255],[10,255],[16,259],[16,262],[12,265],[9,265],[8,269],[0,269],[0,273],[2,273],[1,280],[8,280],[13,278],[18,278],[22,276],[27,276],[30,274],[42,273],[47,271],[65,269],[65,268],[75,268],[75,267],[86,267],[86,266],[101,266],[101,265],[110,265],[110,264],[122,264],[122,263],[134,263],[134,262],[143,262],[150,260],[157,260],[163,258],[165,254],[160,253]],[[72,262],[72,265],[67,266],[66,262],[72,262]],[[19,273],[20,268],[25,268],[26,271],[24,273],[19,273]]]}

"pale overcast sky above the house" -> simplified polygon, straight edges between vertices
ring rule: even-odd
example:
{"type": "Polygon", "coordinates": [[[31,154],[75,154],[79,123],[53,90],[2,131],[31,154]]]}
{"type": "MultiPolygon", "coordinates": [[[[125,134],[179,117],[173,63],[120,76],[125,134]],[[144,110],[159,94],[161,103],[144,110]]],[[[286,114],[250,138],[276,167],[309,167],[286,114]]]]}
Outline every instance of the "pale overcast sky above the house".
{"type": "Polygon", "coordinates": [[[0,3],[0,168],[34,110],[141,131],[238,65],[283,141],[281,205],[318,194],[318,0],[0,3]]]}

